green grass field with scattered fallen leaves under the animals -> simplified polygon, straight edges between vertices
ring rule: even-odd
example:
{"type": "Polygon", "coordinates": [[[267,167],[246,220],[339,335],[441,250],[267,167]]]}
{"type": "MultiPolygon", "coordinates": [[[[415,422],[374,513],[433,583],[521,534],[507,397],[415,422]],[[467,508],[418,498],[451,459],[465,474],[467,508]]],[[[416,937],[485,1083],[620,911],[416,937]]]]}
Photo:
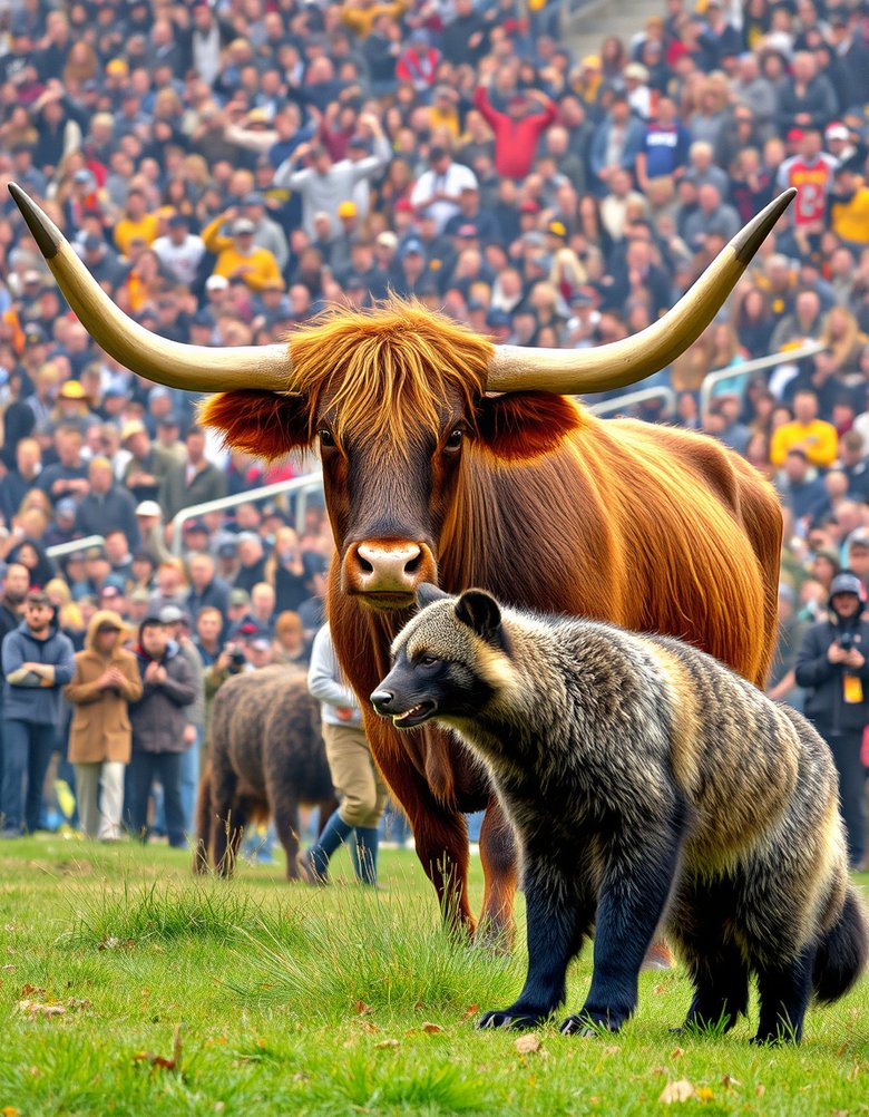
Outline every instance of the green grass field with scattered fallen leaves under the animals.
{"type": "Polygon", "coordinates": [[[619,1035],[550,1027],[522,1050],[474,1019],[513,1000],[524,949],[451,939],[414,855],[382,861],[384,891],[341,882],[347,861],[312,890],[277,867],[195,881],[159,846],[1,844],[0,1117],[869,1113],[869,981],[811,1010],[800,1048],[749,1047],[754,1012],[724,1038],[670,1034],[677,970],[642,976],[619,1035]]]}

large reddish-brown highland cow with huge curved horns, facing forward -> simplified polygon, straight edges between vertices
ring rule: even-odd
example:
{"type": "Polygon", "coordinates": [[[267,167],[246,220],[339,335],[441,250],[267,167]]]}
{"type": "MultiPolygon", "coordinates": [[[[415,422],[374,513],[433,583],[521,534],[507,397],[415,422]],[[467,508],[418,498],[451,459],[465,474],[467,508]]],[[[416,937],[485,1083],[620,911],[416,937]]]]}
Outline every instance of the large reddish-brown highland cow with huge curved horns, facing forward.
{"type": "MultiPolygon", "coordinates": [[[[413,594],[484,585],[527,608],[690,640],[762,684],[776,632],[782,517],[758,471],[715,439],[604,422],[569,397],[668,366],[714,319],[795,190],[772,201],[677,305],[595,349],[493,345],[418,303],[335,307],[287,342],[200,347],[159,337],[103,292],[48,216],[9,190],[94,340],[141,376],[219,392],[202,421],[266,459],[319,449],[335,537],[330,627],[359,696],[383,677],[413,594]]],[[[481,926],[513,928],[510,827],[479,764],[437,726],[364,712],[442,910],[475,927],[465,813],[479,836],[481,926]]]]}

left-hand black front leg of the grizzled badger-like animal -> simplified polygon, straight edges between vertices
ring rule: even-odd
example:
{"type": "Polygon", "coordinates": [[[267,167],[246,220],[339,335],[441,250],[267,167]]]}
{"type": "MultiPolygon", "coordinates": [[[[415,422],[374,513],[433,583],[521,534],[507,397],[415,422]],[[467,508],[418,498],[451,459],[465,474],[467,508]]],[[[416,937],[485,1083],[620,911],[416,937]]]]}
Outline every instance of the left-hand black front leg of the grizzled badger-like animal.
{"type": "Polygon", "coordinates": [[[518,999],[507,1009],[484,1013],[478,1028],[533,1028],[565,996],[567,965],[579,953],[594,918],[591,891],[561,872],[551,859],[526,851],[523,868],[528,974],[518,999]]]}

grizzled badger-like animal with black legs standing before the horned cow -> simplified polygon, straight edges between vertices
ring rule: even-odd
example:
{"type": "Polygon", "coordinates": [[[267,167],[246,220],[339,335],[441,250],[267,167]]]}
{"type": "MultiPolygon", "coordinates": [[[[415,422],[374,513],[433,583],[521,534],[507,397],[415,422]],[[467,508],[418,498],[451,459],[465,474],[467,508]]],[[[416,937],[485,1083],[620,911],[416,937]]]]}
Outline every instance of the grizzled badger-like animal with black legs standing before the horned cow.
{"type": "Polygon", "coordinates": [[[840,997],[869,954],[835,768],[805,718],[678,640],[481,590],[418,600],[371,700],[399,728],[455,729],[522,848],[527,978],[479,1027],[548,1016],[594,928],[591,987],[561,1030],[618,1030],[662,923],[694,983],[687,1027],[733,1027],[754,975],[754,1042],[799,1041],[811,995],[840,997]]]}

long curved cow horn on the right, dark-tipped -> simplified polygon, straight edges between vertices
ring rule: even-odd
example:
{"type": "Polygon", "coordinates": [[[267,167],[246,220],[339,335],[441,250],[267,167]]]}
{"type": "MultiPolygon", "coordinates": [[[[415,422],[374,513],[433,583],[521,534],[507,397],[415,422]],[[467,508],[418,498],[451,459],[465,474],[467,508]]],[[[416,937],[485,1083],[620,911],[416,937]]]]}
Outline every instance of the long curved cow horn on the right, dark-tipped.
{"type": "Polygon", "coordinates": [[[490,392],[539,391],[561,395],[633,384],[684,353],[709,325],[796,190],[785,190],[723,248],[695,285],[662,318],[632,337],[593,350],[496,345],[490,392]]]}

